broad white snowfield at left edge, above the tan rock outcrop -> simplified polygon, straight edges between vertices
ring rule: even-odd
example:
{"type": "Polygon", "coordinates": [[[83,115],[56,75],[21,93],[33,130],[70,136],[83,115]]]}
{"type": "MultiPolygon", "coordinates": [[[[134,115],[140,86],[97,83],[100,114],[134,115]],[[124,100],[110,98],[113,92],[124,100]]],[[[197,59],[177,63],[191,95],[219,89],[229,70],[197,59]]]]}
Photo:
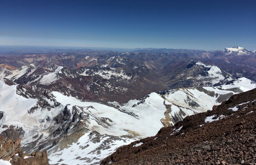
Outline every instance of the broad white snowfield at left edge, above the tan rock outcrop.
{"type": "MultiPolygon", "coordinates": [[[[47,137],[49,120],[46,118],[53,118],[59,114],[63,107],[55,107],[49,111],[47,108],[42,108],[37,106],[38,99],[25,98],[18,95],[17,85],[7,85],[3,80],[0,80],[0,109],[5,113],[5,121],[2,122],[2,125],[16,125],[22,127],[25,131],[24,137],[22,138],[22,145],[27,144],[28,141],[31,141],[31,136],[34,134],[44,134],[44,137],[47,137]],[[11,106],[10,106],[11,105],[11,106]],[[34,110],[34,113],[30,113],[32,107],[37,107],[34,110]],[[44,122],[42,122],[44,121],[44,122]],[[28,140],[28,141],[27,141],[28,140]]],[[[47,104],[53,105],[52,101],[44,98],[47,101],[47,104]]],[[[1,125],[0,132],[6,130],[1,125]]]]}

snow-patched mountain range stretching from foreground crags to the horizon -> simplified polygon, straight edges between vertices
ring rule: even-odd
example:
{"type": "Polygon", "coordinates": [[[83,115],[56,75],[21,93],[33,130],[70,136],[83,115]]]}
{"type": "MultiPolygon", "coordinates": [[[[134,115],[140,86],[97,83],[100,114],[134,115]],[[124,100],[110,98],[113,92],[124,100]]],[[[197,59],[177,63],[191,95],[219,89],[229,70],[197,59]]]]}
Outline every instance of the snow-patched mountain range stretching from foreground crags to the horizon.
{"type": "Polygon", "coordinates": [[[24,154],[47,150],[50,164],[100,164],[256,88],[255,61],[242,47],[3,53],[0,135],[21,138],[24,154]]]}

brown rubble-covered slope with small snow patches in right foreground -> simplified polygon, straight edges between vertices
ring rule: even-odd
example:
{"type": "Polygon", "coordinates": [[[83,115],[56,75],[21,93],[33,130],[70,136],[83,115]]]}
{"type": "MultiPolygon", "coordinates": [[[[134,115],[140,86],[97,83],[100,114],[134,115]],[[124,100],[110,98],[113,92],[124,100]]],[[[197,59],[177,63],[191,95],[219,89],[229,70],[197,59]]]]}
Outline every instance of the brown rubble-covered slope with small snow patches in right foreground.
{"type": "Polygon", "coordinates": [[[102,161],[116,164],[256,164],[256,89],[188,116],[102,161]]]}

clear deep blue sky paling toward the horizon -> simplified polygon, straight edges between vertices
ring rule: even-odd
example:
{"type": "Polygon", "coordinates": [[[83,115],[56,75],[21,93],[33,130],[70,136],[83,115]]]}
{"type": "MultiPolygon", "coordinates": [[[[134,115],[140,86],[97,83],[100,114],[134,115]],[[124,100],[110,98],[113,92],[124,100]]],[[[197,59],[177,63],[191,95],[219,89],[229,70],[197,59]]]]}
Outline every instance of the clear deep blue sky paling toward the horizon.
{"type": "Polygon", "coordinates": [[[1,0],[0,45],[256,49],[256,0],[1,0]]]}

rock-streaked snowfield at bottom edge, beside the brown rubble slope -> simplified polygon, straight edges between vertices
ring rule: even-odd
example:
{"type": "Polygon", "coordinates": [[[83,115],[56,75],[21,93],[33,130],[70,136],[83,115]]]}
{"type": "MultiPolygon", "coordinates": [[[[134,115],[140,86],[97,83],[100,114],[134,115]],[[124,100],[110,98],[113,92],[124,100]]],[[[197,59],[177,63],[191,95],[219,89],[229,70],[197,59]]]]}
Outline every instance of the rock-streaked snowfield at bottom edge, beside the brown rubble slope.
{"type": "Polygon", "coordinates": [[[60,145],[48,150],[50,164],[99,164],[99,162],[113,153],[118,147],[128,145],[137,139],[116,138],[104,135],[95,141],[95,135],[90,132],[80,133],[82,137],[77,142],[71,143],[67,148],[61,149],[60,145]],[[60,161],[62,160],[62,161],[60,161]]]}

